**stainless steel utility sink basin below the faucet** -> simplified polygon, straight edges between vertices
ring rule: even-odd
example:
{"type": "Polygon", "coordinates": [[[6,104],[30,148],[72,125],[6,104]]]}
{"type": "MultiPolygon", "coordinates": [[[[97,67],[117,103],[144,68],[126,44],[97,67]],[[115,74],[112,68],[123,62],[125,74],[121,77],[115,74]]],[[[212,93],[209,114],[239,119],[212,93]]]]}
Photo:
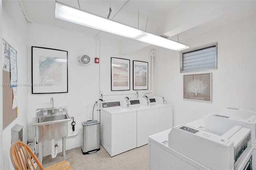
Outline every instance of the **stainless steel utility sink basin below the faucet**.
{"type": "MultiPolygon", "coordinates": [[[[70,117],[67,113],[67,107],[63,107],[61,109],[54,108],[54,115],[52,115],[52,108],[46,109],[48,111],[48,115],[38,115],[32,125],[35,127],[36,142],[43,142],[68,136],[68,121],[70,121],[70,117]]],[[[44,108],[37,110],[42,111],[44,108]]]]}

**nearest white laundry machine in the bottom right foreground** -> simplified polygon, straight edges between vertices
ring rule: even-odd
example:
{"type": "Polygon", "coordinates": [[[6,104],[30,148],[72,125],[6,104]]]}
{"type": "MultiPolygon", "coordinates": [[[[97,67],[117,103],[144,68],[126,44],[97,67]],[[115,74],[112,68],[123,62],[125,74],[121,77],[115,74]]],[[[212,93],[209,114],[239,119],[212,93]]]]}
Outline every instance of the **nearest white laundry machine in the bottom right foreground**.
{"type": "Polygon", "coordinates": [[[235,126],[220,135],[178,125],[149,136],[149,169],[251,169],[251,130],[235,126]]]}

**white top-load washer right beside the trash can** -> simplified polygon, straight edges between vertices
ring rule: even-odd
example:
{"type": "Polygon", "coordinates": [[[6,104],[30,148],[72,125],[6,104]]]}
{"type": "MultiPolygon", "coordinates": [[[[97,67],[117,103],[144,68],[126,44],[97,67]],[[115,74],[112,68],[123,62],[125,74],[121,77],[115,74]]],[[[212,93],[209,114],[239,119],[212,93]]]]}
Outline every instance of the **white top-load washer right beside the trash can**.
{"type": "Polygon", "coordinates": [[[136,110],[120,106],[120,101],[102,101],[101,144],[110,156],[136,148],[136,110]]]}

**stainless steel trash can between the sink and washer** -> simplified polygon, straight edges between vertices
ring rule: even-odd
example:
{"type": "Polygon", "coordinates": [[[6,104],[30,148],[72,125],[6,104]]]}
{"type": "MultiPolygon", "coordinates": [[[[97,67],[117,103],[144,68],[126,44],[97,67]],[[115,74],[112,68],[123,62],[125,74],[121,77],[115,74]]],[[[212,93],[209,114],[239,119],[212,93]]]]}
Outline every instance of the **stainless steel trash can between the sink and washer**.
{"type": "Polygon", "coordinates": [[[97,120],[82,122],[83,154],[92,154],[100,150],[100,122],[97,120]]]}

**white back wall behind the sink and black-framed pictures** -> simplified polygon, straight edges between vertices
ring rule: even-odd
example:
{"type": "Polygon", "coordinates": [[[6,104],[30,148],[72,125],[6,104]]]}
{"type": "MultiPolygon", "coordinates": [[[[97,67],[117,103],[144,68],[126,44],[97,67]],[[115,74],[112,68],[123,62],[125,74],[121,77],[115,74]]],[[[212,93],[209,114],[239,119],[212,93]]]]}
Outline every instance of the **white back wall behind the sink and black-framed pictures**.
{"type": "MultiPolygon", "coordinates": [[[[122,56],[119,55],[119,43],[114,40],[100,38],[100,65],[82,65],[78,62],[77,57],[82,54],[87,54],[94,59],[96,49],[96,38],[94,36],[86,36],[81,33],[71,32],[50,26],[39,24],[28,24],[28,82],[31,83],[31,46],[48,47],[54,49],[62,49],[68,51],[68,93],[60,94],[32,94],[31,88],[28,89],[28,139],[34,141],[34,131],[32,128],[32,114],[37,108],[51,107],[50,98],[54,98],[54,106],[67,106],[68,114],[74,117],[76,121],[75,132],[79,132],[78,136],[66,139],[66,149],[77,148],[82,146],[82,126],[83,121],[92,120],[92,108],[100,98],[99,91],[103,91],[104,100],[113,100],[124,98],[127,95],[134,94],[132,91],[132,60],[147,61],[150,63],[150,48],[146,48],[137,53],[122,56]],[[111,92],[110,89],[110,57],[120,57],[130,59],[130,77],[131,90],[122,92],[111,92]],[[99,66],[100,68],[100,87],[99,87],[99,66]],[[100,90],[99,90],[100,88],[100,90]],[[115,94],[116,96],[105,96],[115,94]]],[[[108,36],[107,36],[108,37],[108,36]]],[[[114,37],[113,37],[114,38],[114,37]]],[[[97,42],[97,57],[99,54],[99,43],[97,42]]],[[[150,69],[149,69],[150,73],[150,69]]],[[[150,79],[149,79],[150,82],[150,79]]],[[[149,83],[150,85],[150,83],[149,83]]],[[[141,93],[141,91],[140,91],[141,93]]],[[[135,95],[128,95],[135,98],[135,95]]],[[[95,107],[96,110],[97,107],[95,107]]],[[[97,118],[97,113],[94,112],[94,117],[97,118]]],[[[72,133],[71,122],[68,123],[68,133],[72,133]]],[[[51,142],[44,142],[44,156],[49,155],[51,150],[51,142]]],[[[62,146],[61,140],[58,140],[58,145],[62,146]]],[[[62,151],[62,147],[58,148],[62,151]]]]}

